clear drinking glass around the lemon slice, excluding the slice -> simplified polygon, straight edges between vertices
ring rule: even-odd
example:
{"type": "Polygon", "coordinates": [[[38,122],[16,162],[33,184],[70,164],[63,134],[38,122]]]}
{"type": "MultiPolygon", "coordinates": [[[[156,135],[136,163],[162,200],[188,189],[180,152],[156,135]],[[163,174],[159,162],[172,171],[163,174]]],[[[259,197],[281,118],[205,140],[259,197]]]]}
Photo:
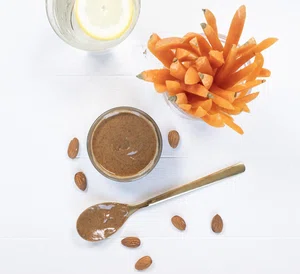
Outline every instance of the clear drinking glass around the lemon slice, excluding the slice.
{"type": "Polygon", "coordinates": [[[47,16],[55,33],[67,44],[85,51],[105,52],[124,41],[134,29],[140,14],[141,1],[133,1],[133,17],[126,32],[113,40],[97,40],[85,34],[74,15],[76,0],[46,0],[47,16]]]}

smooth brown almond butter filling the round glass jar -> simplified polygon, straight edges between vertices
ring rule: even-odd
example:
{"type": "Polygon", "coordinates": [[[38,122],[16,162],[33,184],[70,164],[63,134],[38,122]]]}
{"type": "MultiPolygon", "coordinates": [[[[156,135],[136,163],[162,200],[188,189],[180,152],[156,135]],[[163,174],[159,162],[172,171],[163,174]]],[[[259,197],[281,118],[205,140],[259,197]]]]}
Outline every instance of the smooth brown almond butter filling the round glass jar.
{"type": "Polygon", "coordinates": [[[122,112],[95,128],[92,154],[100,169],[117,177],[143,171],[158,151],[154,127],[142,116],[122,112]]]}

